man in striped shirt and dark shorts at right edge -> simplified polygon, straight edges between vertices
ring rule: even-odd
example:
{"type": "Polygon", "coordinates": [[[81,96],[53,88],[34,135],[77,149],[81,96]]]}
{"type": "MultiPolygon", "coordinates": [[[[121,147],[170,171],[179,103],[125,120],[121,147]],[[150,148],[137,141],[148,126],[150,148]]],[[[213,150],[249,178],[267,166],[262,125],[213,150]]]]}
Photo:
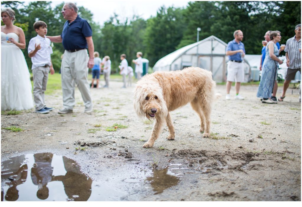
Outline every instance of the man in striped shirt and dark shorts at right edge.
{"type": "MultiPolygon", "coordinates": [[[[296,25],[295,33],[296,35],[294,37],[291,37],[286,41],[284,51],[286,52],[285,57],[288,69],[283,84],[283,92],[278,101],[283,101],[285,98],[285,92],[288,89],[291,80],[295,78],[296,73],[299,71],[301,74],[301,24],[296,25]]],[[[299,93],[299,101],[301,102],[301,85],[299,93]]]]}

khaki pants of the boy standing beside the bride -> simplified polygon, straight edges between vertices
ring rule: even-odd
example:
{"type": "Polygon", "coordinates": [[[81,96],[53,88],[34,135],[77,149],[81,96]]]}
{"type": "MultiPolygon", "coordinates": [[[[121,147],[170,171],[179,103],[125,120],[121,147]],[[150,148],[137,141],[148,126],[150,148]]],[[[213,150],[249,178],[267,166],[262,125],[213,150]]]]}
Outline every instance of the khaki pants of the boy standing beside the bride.
{"type": "Polygon", "coordinates": [[[36,67],[32,70],[34,82],[34,102],[36,111],[44,108],[44,92],[46,91],[49,67],[36,67]]]}

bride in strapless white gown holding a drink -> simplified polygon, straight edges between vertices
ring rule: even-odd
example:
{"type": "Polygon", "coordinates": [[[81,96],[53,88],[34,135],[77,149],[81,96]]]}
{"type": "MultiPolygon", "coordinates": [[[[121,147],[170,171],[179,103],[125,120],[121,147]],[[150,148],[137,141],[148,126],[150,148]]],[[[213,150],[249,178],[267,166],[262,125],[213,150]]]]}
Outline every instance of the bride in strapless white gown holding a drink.
{"type": "Polygon", "coordinates": [[[24,110],[34,107],[31,81],[24,55],[25,35],[14,26],[15,12],[1,11],[1,111],[24,110]],[[20,42],[19,42],[20,40],[20,42]]]}

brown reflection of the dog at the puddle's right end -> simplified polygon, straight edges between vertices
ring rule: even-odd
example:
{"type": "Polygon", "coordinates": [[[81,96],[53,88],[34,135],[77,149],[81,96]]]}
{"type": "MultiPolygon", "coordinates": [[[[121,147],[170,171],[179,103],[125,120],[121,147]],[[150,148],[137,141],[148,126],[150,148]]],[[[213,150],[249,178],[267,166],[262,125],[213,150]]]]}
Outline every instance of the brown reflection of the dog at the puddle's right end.
{"type": "Polygon", "coordinates": [[[162,170],[153,169],[153,177],[147,177],[146,180],[150,181],[154,195],[162,193],[165,189],[176,186],[180,178],[176,177],[174,173],[169,171],[169,166],[162,170]]]}

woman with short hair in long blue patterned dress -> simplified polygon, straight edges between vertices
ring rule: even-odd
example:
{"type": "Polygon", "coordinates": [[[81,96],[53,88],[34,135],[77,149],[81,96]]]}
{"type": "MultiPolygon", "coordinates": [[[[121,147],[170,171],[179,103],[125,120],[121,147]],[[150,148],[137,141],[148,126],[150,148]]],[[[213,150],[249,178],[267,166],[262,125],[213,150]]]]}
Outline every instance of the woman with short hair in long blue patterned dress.
{"type": "Polygon", "coordinates": [[[277,42],[280,42],[281,35],[279,31],[271,31],[269,33],[271,41],[268,42],[265,48],[265,59],[262,66],[262,75],[257,92],[257,97],[263,98],[262,103],[277,103],[271,99],[273,85],[277,77],[278,64],[282,64],[277,55],[279,53],[277,42]]]}

